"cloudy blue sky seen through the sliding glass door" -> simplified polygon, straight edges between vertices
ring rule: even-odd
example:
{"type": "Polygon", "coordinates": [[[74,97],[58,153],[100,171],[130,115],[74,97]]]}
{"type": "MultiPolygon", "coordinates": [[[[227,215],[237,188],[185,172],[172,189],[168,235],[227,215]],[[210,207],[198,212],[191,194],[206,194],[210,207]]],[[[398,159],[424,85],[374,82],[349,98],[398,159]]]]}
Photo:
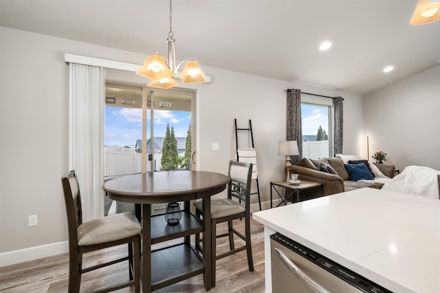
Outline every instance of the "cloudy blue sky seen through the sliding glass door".
{"type": "MultiPolygon", "coordinates": [[[[154,136],[165,137],[166,124],[174,127],[175,137],[186,137],[191,123],[191,113],[184,111],[155,110],[154,136]]],[[[150,138],[150,111],[147,111],[147,138],[150,138]]],[[[142,109],[105,107],[104,145],[133,146],[142,139],[142,109]]]]}

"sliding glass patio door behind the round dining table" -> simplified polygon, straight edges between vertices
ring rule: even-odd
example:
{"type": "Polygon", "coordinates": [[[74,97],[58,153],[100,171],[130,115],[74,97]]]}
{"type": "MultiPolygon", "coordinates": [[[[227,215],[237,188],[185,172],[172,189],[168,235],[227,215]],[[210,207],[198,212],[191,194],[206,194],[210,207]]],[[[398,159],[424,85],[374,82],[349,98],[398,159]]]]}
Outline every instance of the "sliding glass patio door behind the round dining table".
{"type": "Polygon", "coordinates": [[[195,92],[106,83],[104,180],[191,169],[195,92]]]}

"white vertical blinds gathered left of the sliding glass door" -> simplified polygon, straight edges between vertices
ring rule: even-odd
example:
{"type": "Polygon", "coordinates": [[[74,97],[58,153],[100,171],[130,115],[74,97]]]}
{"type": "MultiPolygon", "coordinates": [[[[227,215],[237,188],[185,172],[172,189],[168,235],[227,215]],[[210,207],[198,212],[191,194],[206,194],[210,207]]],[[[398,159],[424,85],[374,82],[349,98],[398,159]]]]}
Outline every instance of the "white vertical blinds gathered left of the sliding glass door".
{"type": "Polygon", "coordinates": [[[69,64],[69,169],[76,170],[83,220],[104,215],[104,68],[69,64]]]}

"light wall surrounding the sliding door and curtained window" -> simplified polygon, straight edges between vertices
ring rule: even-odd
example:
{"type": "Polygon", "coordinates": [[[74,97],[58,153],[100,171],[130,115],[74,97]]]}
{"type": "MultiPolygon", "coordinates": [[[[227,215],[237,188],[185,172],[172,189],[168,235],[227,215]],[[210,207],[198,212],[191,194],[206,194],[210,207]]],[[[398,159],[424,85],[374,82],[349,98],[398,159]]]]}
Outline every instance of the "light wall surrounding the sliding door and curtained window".
{"type": "MultiPolygon", "coordinates": [[[[4,266],[67,251],[61,188],[61,176],[69,171],[69,70],[64,54],[140,65],[145,55],[5,27],[0,27],[0,36],[0,266],[4,266]],[[28,227],[28,215],[38,215],[38,226],[28,227]]],[[[344,153],[361,154],[364,122],[359,96],[211,67],[203,70],[212,75],[212,83],[194,87],[199,169],[227,173],[227,162],[234,157],[234,118],[245,125],[252,119],[261,196],[269,200],[270,181],[283,178],[285,162],[277,148],[278,141],[285,140],[288,88],[342,95],[344,153]],[[212,143],[219,143],[220,150],[212,151],[212,143]]],[[[128,71],[111,74],[119,80],[146,82],[128,71]]]]}

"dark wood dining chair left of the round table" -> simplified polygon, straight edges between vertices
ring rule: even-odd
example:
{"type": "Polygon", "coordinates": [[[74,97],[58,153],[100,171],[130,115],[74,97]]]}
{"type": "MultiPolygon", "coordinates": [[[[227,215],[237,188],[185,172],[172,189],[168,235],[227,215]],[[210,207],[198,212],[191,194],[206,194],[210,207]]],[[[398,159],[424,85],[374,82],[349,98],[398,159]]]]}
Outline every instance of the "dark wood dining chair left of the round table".
{"type": "Polygon", "coordinates": [[[69,292],[79,292],[81,274],[112,264],[129,261],[129,281],[96,292],[110,292],[135,286],[140,292],[140,232],[133,213],[118,213],[83,222],[81,196],[75,171],[61,177],[69,230],[69,292]],[[94,250],[128,244],[128,256],[83,268],[83,254],[94,250]]]}

